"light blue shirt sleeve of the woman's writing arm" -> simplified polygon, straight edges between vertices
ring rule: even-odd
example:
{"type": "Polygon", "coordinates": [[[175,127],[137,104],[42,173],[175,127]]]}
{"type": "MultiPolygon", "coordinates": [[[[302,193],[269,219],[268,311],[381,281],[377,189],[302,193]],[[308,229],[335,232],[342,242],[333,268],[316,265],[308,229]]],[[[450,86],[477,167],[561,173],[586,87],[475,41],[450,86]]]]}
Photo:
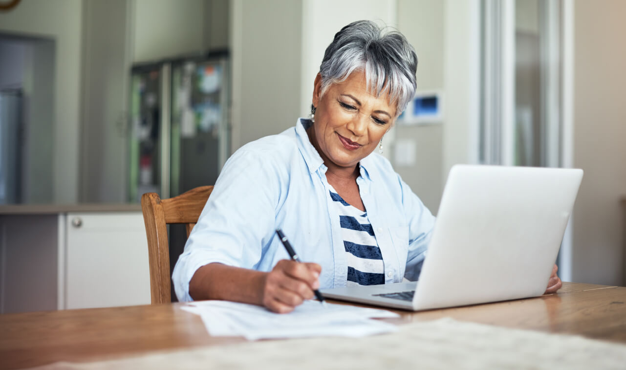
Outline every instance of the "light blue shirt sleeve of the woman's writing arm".
{"type": "Polygon", "coordinates": [[[192,301],[189,282],[206,264],[253,269],[272,237],[277,203],[277,172],[258,151],[241,148],[229,158],[215,183],[172,280],[179,301],[192,301]]]}

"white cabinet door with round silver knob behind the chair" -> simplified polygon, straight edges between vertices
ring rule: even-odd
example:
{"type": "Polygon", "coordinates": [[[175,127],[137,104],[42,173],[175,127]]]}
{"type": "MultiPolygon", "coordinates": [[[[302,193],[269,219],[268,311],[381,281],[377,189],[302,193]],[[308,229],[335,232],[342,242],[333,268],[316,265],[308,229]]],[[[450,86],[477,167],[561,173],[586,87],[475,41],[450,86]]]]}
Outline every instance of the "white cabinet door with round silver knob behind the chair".
{"type": "Polygon", "coordinates": [[[67,213],[64,308],[150,304],[141,212],[67,213]]]}

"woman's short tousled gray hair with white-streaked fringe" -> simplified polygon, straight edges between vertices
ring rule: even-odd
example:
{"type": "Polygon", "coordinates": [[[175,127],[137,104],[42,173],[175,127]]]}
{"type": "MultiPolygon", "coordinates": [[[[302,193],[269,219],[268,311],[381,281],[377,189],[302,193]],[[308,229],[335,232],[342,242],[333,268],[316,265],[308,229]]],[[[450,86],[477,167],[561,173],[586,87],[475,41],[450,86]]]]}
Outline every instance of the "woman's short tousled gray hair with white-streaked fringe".
{"type": "Polygon", "coordinates": [[[384,33],[372,21],[356,21],[335,34],[319,68],[321,95],[333,83],[341,83],[354,71],[365,72],[369,91],[388,93],[399,116],[413,99],[418,56],[398,31],[384,33]]]}

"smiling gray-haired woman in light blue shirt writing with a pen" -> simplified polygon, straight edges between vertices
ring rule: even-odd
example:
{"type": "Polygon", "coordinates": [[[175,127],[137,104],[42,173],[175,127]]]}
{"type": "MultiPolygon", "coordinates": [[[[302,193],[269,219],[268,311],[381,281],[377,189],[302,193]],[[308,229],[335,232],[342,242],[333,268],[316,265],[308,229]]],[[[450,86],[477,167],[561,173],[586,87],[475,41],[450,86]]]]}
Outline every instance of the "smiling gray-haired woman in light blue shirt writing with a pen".
{"type": "MultiPolygon", "coordinates": [[[[180,301],[289,312],[313,290],[417,280],[434,217],[381,155],[413,98],[402,34],[342,28],[316,76],[310,119],[242,146],[224,166],[173,272],[180,301]],[[289,259],[282,229],[304,264],[289,259]]],[[[553,274],[550,289],[560,280],[553,274]]]]}

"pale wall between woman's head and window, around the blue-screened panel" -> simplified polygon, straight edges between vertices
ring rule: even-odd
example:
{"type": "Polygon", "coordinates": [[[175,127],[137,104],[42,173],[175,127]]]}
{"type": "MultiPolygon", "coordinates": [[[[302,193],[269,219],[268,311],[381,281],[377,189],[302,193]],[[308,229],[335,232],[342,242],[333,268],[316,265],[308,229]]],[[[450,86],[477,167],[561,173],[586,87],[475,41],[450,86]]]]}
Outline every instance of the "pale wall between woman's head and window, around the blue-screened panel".
{"type": "Polygon", "coordinates": [[[478,162],[480,14],[478,0],[399,0],[398,29],[418,53],[418,93],[438,91],[443,121],[397,126],[416,146],[415,165],[396,171],[436,214],[450,168],[478,162]]]}

